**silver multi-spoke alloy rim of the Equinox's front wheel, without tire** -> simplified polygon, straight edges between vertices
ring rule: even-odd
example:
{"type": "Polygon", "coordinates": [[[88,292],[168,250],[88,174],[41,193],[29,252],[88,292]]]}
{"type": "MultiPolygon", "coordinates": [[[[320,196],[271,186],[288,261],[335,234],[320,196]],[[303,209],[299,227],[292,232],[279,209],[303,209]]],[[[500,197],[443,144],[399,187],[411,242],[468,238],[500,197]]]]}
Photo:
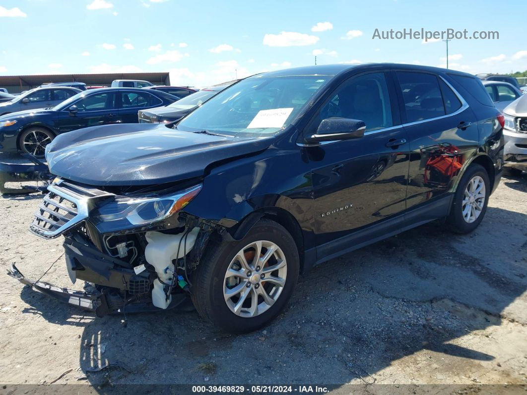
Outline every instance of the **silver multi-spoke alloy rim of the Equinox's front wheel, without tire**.
{"type": "Polygon", "coordinates": [[[275,304],[284,290],[286,277],[287,261],[281,248],[258,240],[232,258],[223,281],[223,297],[236,315],[255,317],[275,304]]]}

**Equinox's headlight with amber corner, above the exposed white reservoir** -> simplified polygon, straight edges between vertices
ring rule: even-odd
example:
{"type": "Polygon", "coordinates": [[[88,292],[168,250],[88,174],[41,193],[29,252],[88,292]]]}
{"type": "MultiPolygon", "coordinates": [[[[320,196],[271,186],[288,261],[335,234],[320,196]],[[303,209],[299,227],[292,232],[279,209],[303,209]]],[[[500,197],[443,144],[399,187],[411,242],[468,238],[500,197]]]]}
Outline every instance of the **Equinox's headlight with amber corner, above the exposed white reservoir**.
{"type": "Polygon", "coordinates": [[[112,223],[117,228],[151,224],[170,217],[188,205],[201,187],[199,184],[168,195],[117,197],[99,207],[94,219],[97,223],[112,223]]]}

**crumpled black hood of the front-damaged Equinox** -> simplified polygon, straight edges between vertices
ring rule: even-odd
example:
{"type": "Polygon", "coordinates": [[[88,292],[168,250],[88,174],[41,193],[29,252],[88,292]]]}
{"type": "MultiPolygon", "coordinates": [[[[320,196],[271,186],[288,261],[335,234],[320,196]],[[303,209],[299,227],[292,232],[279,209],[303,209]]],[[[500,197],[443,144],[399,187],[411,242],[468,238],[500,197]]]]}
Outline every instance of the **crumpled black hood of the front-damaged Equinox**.
{"type": "Polygon", "coordinates": [[[46,160],[52,174],[88,185],[153,185],[200,177],[211,163],[264,150],[272,140],[155,123],[105,125],[60,134],[46,147],[46,160]]]}

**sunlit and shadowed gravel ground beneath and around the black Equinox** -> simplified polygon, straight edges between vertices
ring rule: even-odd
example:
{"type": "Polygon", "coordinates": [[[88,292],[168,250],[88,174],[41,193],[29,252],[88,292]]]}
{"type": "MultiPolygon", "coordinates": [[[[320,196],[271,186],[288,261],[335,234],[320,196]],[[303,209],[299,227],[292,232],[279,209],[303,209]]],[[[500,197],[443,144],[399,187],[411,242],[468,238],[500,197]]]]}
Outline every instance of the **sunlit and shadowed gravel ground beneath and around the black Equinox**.
{"type": "Polygon", "coordinates": [[[5,275],[11,263],[37,278],[56,259],[43,280],[71,286],[61,240],[26,230],[41,196],[1,198],[0,382],[51,383],[67,372],[57,384],[95,392],[120,383],[396,384],[392,393],[527,384],[526,196],[525,173],[503,178],[470,235],[432,223],[320,265],[277,320],[241,336],[196,312],[129,315],[124,325],[24,287],[5,275]]]}

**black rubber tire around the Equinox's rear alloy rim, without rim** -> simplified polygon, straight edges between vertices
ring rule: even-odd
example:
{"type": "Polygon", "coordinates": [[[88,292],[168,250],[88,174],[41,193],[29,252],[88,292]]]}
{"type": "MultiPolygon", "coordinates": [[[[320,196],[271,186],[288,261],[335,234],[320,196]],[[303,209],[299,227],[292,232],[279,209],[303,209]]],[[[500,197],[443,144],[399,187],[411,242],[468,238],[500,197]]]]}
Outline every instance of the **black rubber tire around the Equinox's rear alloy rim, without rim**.
{"type": "Polygon", "coordinates": [[[452,207],[450,210],[450,215],[447,217],[447,224],[450,226],[450,229],[455,233],[465,234],[472,232],[477,226],[480,225],[485,213],[487,211],[487,204],[489,203],[490,196],[490,180],[489,174],[485,168],[477,163],[473,163],[465,170],[463,177],[459,184],[457,185],[456,192],[454,194],[454,200],[452,201],[452,207]],[[479,176],[483,179],[485,184],[485,200],[483,203],[483,208],[479,216],[472,222],[467,222],[463,217],[463,208],[462,203],[465,196],[465,190],[469,185],[469,182],[476,176],[479,176]]]}

